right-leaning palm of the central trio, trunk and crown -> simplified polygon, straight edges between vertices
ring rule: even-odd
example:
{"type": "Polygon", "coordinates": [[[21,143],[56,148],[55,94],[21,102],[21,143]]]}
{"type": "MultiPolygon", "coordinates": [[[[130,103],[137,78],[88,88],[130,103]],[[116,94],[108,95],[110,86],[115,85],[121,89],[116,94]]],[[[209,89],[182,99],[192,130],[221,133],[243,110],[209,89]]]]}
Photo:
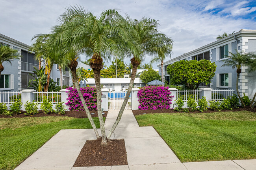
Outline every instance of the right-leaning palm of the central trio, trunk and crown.
{"type": "Polygon", "coordinates": [[[134,37],[138,46],[136,46],[136,50],[131,51],[129,48],[127,49],[127,53],[132,55],[132,74],[130,84],[124,98],[124,102],[122,103],[121,109],[118,113],[117,119],[115,120],[107,136],[107,139],[110,139],[112,133],[121,120],[122,113],[124,112],[124,108],[132,91],[137,68],[141,64],[141,61],[144,60],[145,55],[156,55],[158,51],[161,51],[161,46],[159,43],[163,44],[162,42],[165,42],[164,44],[169,46],[169,48],[171,48],[173,45],[173,40],[171,38],[168,38],[164,34],[158,32],[159,24],[156,20],[148,19],[145,17],[143,17],[141,20],[132,20],[127,16],[126,23],[128,25],[130,34],[132,34],[132,37],[134,37]]]}

